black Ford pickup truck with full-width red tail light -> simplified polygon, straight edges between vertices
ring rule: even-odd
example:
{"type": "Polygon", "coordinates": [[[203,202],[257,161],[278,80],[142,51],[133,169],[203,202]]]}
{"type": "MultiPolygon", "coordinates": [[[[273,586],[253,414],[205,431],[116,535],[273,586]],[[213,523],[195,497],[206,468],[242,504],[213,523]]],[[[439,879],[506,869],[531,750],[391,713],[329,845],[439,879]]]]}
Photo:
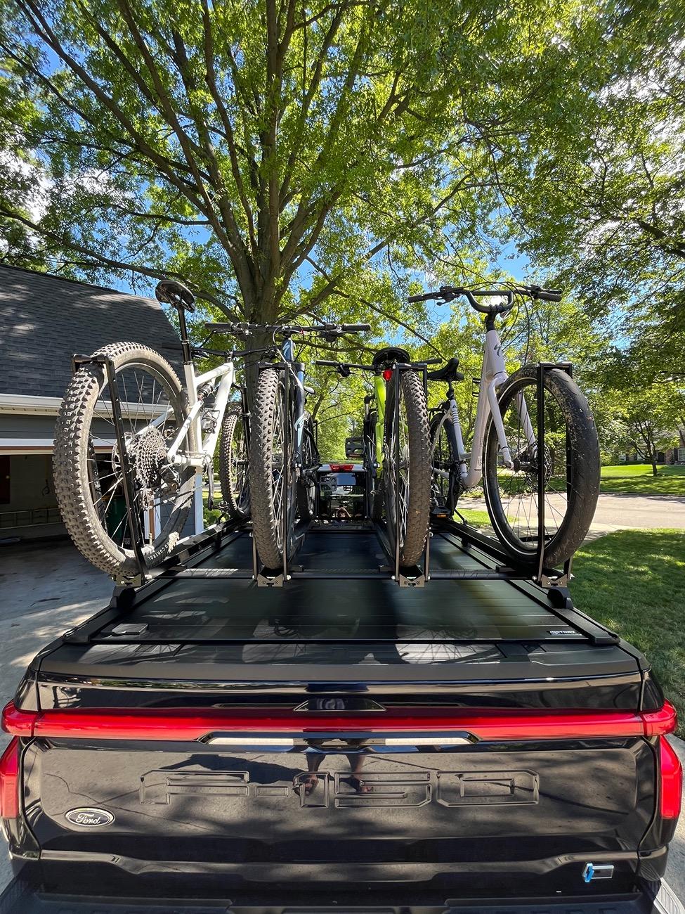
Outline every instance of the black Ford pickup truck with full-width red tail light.
{"type": "Polygon", "coordinates": [[[353,521],[297,561],[259,587],[215,528],[37,655],[3,914],[678,910],[675,713],[637,650],[452,522],[414,586],[353,521]]]}

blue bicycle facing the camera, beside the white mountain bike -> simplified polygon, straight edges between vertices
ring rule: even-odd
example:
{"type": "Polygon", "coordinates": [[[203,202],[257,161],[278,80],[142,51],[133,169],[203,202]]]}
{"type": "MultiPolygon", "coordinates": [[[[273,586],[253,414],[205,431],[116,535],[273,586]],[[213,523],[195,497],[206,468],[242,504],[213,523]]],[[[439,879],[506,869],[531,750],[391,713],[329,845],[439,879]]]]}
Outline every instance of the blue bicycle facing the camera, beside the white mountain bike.
{"type": "Polygon", "coordinates": [[[269,324],[262,328],[273,336],[269,356],[278,363],[259,367],[252,410],[249,451],[252,535],[258,557],[267,569],[282,567],[296,547],[297,516],[311,521],[316,508],[317,472],[321,460],[311,416],[305,400],[311,388],[304,385],[302,362],[295,361],[293,336],[313,334],[333,342],[342,335],[370,330],[369,324],[269,324]],[[276,344],[276,337],[282,344],[276,344]],[[291,396],[294,391],[294,397],[291,396]]]}

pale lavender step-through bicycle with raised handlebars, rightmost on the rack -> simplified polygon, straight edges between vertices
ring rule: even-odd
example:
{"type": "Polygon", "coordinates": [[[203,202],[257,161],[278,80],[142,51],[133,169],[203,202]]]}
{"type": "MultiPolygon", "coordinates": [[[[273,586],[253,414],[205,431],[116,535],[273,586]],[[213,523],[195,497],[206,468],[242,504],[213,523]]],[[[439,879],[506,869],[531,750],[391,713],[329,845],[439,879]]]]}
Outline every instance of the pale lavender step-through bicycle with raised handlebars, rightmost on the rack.
{"type": "Polygon", "coordinates": [[[495,319],[511,311],[517,296],[559,302],[562,293],[535,285],[480,290],[442,286],[437,292],[413,295],[409,301],[451,302],[465,297],[472,308],[487,315],[470,452],[464,446],[453,387],[463,380],[458,358],[428,373],[429,380],[448,384],[447,399],[431,421],[434,505],[453,516],[459,496],[482,479],[490,523],[502,545],[512,558],[532,563],[539,556],[542,491],[543,560],[549,568],[574,554],[595,515],[599,442],[595,420],[570,367],[545,365],[539,376],[538,367],[528,365],[508,375],[495,319]],[[506,301],[479,302],[493,296],[506,301]],[[526,393],[535,396],[526,399],[526,393]],[[541,431],[545,435],[542,460],[541,431]]]}

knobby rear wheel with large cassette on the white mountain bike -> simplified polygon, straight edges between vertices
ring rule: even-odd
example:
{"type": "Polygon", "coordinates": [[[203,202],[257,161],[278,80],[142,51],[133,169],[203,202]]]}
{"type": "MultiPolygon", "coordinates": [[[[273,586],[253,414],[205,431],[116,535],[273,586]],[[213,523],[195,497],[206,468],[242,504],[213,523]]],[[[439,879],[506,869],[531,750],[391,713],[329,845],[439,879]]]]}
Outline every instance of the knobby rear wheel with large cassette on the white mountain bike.
{"type": "MultiPolygon", "coordinates": [[[[167,459],[187,414],[186,399],[174,369],[147,346],[116,343],[94,355],[114,363],[143,554],[153,567],[174,548],[193,504],[195,470],[167,459]]],[[[195,451],[191,436],[188,430],[179,453],[195,451]]],[[[88,363],[71,379],[55,429],[54,474],[69,536],[96,568],[115,575],[134,553],[103,365],[88,363]]]]}

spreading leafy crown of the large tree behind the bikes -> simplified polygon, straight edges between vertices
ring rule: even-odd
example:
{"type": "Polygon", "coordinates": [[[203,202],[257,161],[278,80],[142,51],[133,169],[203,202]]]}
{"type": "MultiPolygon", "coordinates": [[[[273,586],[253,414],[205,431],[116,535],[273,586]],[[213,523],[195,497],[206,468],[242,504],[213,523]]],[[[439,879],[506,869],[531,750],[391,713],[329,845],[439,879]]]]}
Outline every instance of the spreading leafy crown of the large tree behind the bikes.
{"type": "Polygon", "coordinates": [[[475,0],[10,0],[16,256],[172,273],[258,321],[315,308],[377,255],[439,246],[448,204],[489,184],[460,92],[520,27],[475,0]]]}

